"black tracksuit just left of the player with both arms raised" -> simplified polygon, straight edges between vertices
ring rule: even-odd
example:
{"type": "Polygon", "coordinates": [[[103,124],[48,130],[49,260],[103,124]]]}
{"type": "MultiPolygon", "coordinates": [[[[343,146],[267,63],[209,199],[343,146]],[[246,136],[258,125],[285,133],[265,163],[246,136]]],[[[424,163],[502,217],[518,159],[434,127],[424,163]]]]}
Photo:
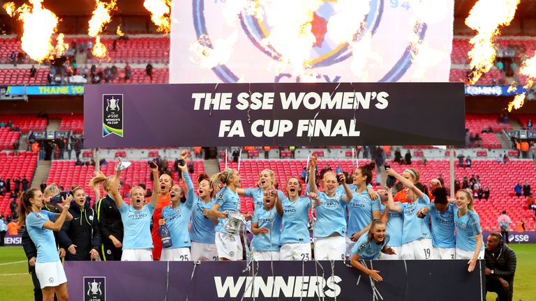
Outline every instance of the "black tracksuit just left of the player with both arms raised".
{"type": "Polygon", "coordinates": [[[120,247],[115,247],[112,240],[108,237],[112,235],[123,243],[121,213],[119,213],[114,199],[109,194],[98,201],[95,206],[98,229],[101,231],[102,240],[101,248],[98,249],[99,255],[103,261],[120,261],[123,251],[120,247]]]}

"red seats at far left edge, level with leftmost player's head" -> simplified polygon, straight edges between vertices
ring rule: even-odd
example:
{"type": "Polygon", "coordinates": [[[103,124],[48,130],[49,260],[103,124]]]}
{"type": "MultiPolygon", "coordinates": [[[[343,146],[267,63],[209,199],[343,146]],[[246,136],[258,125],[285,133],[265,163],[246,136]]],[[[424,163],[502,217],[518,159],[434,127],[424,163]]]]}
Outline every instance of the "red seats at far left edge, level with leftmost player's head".
{"type": "MultiPolygon", "coordinates": [[[[10,179],[11,190],[14,189],[13,180],[17,177],[21,179],[27,176],[28,180],[34,176],[37,164],[37,153],[22,151],[18,155],[13,152],[8,154],[0,153],[0,176],[3,180],[10,179]]],[[[9,194],[0,195],[0,213],[2,215],[10,214],[9,203],[11,199],[9,194]]]]}

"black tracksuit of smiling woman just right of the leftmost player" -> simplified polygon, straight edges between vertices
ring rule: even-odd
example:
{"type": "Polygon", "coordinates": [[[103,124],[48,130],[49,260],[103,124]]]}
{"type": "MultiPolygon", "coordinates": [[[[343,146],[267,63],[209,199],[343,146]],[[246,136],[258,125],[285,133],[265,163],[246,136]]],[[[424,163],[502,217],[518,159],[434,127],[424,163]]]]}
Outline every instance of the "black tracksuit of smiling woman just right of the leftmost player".
{"type": "Polygon", "coordinates": [[[80,209],[75,201],[70,202],[69,213],[73,220],[64,222],[59,232],[59,243],[66,249],[66,261],[91,261],[89,251],[101,249],[101,233],[98,231],[97,215],[89,203],[80,209]],[[75,245],[76,254],[70,254],[68,247],[75,245]]]}

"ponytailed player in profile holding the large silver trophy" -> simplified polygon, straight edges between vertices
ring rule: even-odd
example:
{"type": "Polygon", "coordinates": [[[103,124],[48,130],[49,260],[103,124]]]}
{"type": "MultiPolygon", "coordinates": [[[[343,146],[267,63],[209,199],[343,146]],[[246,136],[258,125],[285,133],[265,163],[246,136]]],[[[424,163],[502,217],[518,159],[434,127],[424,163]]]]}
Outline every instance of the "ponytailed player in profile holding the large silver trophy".
{"type": "Polygon", "coordinates": [[[244,258],[239,229],[246,217],[240,213],[237,188],[241,186],[240,175],[234,169],[216,173],[214,180],[221,180],[223,188],[216,194],[216,203],[211,214],[218,217],[216,226],[216,249],[221,261],[237,261],[244,258]]]}

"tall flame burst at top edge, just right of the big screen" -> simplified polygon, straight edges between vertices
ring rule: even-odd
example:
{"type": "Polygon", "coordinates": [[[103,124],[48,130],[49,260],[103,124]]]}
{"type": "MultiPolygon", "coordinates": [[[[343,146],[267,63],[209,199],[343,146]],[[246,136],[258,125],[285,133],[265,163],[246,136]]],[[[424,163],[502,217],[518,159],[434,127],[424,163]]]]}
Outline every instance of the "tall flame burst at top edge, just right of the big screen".
{"type": "Polygon", "coordinates": [[[500,33],[500,26],[508,26],[521,0],[479,0],[471,8],[466,24],[477,31],[477,35],[469,40],[472,49],[468,56],[472,70],[469,84],[475,84],[485,72],[488,72],[496,57],[493,38],[500,33]]]}

